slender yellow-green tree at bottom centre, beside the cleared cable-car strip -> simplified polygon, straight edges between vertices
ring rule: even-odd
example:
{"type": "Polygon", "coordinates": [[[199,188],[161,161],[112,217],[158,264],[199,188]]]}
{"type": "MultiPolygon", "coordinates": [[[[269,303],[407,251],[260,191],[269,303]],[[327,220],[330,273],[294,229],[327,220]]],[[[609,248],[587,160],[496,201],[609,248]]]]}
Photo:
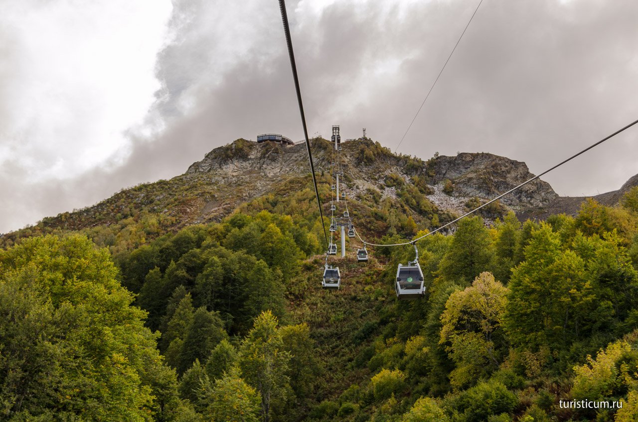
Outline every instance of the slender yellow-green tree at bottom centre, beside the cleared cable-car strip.
{"type": "Polygon", "coordinates": [[[272,312],[262,312],[244,338],[239,358],[244,379],[262,398],[264,422],[271,420],[272,405],[283,406],[290,389],[286,375],[290,354],[284,350],[277,324],[277,317],[272,312]]]}

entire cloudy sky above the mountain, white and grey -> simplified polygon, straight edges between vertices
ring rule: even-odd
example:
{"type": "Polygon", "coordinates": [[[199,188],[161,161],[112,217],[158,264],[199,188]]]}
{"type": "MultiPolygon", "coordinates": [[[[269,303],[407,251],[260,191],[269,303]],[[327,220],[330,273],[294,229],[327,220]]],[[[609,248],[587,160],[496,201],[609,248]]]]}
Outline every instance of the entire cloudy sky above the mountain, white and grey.
{"type": "MultiPolygon", "coordinates": [[[[0,233],[186,171],[260,133],[303,138],[274,0],[0,0],[0,233]]],[[[479,0],[288,1],[309,135],[394,150],[479,0]]],[[[398,152],[540,173],[638,119],[638,2],[484,0],[398,152]]],[[[638,173],[638,126],[545,175],[638,173]]]]}

